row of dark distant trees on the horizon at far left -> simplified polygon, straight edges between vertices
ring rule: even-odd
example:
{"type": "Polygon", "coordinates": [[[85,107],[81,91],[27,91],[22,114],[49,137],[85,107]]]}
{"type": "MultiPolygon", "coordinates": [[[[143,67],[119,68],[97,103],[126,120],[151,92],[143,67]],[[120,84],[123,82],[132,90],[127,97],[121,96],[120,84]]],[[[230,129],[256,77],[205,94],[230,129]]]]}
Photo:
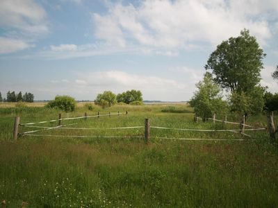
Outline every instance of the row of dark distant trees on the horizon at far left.
{"type": "Polygon", "coordinates": [[[15,93],[15,91],[7,92],[6,98],[2,98],[1,92],[0,92],[0,102],[8,102],[8,103],[15,103],[15,102],[27,102],[27,103],[33,103],[34,101],[34,95],[30,92],[25,92],[25,94],[22,95],[22,92],[20,91],[18,94],[15,93]]]}

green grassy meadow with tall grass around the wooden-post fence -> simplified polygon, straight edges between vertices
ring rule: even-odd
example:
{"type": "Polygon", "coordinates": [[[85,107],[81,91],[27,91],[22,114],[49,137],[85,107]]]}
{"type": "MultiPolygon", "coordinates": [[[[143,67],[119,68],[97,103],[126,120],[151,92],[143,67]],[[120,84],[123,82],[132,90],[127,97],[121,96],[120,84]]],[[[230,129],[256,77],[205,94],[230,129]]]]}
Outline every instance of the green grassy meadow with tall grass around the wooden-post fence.
{"type": "MultiPolygon", "coordinates": [[[[238,128],[193,122],[186,105],[85,106],[63,118],[125,112],[127,115],[69,120],[72,127],[107,128],[151,125],[172,128],[238,128]]],[[[94,138],[19,137],[12,142],[13,121],[58,119],[44,107],[0,107],[0,200],[6,207],[278,207],[278,150],[268,134],[248,132],[251,141],[232,132],[152,129],[148,144],[142,129],[49,130],[42,135],[92,135],[94,138]],[[101,137],[102,136],[102,137],[101,137]],[[104,138],[129,136],[130,139],[104,138]],[[184,141],[155,137],[246,139],[184,141]]],[[[228,120],[236,121],[233,116],[228,120]]],[[[265,126],[265,116],[247,123],[265,126]]],[[[276,118],[277,123],[277,118],[276,118]]],[[[41,125],[55,126],[57,123],[41,125]]],[[[33,128],[20,127],[20,132],[33,128]]]]}

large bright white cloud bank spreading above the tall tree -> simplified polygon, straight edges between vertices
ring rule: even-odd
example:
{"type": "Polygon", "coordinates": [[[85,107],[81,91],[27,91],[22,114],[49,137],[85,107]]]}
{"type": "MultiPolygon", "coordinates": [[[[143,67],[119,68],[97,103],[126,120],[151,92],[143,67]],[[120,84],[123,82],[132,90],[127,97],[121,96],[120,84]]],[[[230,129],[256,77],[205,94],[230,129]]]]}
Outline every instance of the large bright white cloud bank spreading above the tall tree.
{"type": "Polygon", "coordinates": [[[278,11],[275,0],[154,0],[142,1],[137,8],[122,3],[109,6],[108,14],[93,15],[100,40],[167,49],[185,49],[198,41],[219,44],[243,28],[265,44],[272,37],[269,13],[278,11]]]}

